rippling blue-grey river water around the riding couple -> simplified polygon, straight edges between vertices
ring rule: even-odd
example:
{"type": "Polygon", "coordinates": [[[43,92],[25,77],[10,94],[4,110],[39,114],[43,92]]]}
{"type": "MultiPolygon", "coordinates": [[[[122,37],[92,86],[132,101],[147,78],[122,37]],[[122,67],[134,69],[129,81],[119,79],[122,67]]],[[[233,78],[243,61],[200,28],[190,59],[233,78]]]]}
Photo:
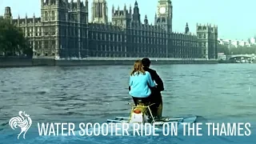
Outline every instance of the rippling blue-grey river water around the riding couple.
{"type": "Polygon", "coordinates": [[[152,66],[165,85],[163,116],[198,115],[201,122],[250,122],[249,137],[38,136],[38,122],[105,122],[128,116],[131,66],[42,66],[0,69],[0,143],[254,143],[256,65],[152,66]],[[33,119],[17,140],[10,118],[33,119]]]}

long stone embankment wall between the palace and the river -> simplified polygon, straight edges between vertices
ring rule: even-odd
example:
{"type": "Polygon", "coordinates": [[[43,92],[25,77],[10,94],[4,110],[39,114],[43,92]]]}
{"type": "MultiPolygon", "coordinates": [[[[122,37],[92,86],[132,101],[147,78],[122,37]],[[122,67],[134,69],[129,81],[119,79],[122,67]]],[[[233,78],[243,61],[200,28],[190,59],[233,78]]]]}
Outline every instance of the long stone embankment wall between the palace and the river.
{"type": "MultiPolygon", "coordinates": [[[[100,65],[132,65],[140,58],[0,58],[0,67],[12,66],[100,66],[100,65]]],[[[182,58],[150,58],[153,65],[170,64],[217,64],[217,60],[182,59],[182,58]]]]}

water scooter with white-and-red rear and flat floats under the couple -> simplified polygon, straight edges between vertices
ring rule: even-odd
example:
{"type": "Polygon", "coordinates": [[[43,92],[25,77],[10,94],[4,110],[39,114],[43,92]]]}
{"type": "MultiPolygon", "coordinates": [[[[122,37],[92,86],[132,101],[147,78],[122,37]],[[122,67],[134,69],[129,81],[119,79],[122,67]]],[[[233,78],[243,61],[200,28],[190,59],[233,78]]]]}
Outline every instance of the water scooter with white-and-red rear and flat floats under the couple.
{"type": "Polygon", "coordinates": [[[139,102],[137,106],[132,106],[130,111],[130,117],[116,117],[114,119],[107,119],[107,122],[126,122],[126,123],[151,123],[155,125],[163,125],[165,123],[194,123],[196,122],[197,116],[189,116],[184,118],[154,118],[150,110],[150,104],[146,106],[145,104],[139,102]]]}

